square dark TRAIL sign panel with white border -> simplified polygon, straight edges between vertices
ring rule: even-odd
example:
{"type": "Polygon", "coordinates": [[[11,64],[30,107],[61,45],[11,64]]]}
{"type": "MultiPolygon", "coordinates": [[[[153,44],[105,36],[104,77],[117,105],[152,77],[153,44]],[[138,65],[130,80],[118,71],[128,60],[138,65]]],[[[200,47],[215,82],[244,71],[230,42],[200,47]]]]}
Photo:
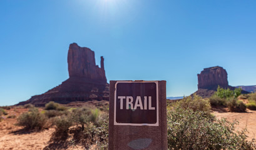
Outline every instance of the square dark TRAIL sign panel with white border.
{"type": "Polygon", "coordinates": [[[158,81],[117,81],[114,125],[158,126],[158,81]]]}

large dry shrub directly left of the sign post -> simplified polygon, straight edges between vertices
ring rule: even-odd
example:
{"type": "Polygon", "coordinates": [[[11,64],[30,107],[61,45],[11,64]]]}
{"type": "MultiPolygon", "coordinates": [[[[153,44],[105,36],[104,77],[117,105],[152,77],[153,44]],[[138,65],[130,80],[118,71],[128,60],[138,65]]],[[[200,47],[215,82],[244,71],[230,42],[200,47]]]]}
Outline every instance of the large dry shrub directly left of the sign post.
{"type": "Polygon", "coordinates": [[[54,119],[56,131],[55,138],[66,138],[68,133],[74,134],[74,141],[84,144],[89,148],[97,144],[98,148],[108,146],[108,115],[99,109],[77,108],[68,111],[67,116],[54,119]],[[73,126],[74,125],[74,126],[73,126]],[[72,128],[70,128],[73,126],[72,128]]]}

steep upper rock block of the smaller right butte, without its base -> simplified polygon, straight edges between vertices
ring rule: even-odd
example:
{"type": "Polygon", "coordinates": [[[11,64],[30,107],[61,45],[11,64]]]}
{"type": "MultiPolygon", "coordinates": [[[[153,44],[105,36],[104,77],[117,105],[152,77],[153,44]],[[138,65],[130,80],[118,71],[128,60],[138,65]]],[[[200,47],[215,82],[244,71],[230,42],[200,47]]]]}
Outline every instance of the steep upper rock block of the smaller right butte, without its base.
{"type": "Polygon", "coordinates": [[[197,74],[197,77],[198,89],[215,90],[218,86],[228,88],[227,71],[222,67],[205,68],[200,74],[197,74]]]}

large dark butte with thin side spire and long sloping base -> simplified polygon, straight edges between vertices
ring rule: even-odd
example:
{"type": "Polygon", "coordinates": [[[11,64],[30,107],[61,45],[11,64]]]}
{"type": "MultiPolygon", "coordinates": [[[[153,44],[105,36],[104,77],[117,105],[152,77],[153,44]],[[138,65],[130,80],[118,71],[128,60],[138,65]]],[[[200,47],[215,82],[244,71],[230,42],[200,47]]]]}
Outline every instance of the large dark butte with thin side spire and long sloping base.
{"type": "Polygon", "coordinates": [[[44,94],[32,96],[18,105],[44,106],[49,101],[68,104],[74,101],[108,100],[109,84],[106,83],[104,58],[101,68],[95,63],[95,53],[87,47],[70,44],[68,50],[69,79],[44,94]]]}

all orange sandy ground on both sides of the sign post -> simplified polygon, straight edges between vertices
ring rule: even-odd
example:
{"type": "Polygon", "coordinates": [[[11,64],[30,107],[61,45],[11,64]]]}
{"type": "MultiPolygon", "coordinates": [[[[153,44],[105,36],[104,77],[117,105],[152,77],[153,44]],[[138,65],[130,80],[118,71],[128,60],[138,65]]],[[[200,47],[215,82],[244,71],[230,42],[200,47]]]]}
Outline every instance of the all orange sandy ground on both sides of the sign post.
{"type": "MultiPolygon", "coordinates": [[[[74,146],[72,144],[68,144],[66,148],[51,148],[53,143],[51,143],[50,139],[54,128],[29,133],[23,131],[23,128],[15,126],[17,116],[26,111],[28,109],[14,108],[7,110],[8,115],[4,116],[3,121],[0,122],[0,149],[84,149],[82,146],[74,146]],[[8,118],[8,116],[16,116],[16,118],[8,118]]],[[[248,113],[219,113],[213,111],[213,114],[218,119],[227,118],[228,121],[236,119],[239,121],[237,129],[247,128],[248,139],[255,138],[256,111],[248,110],[248,113]]],[[[91,149],[95,149],[95,147],[91,149]]]]}

